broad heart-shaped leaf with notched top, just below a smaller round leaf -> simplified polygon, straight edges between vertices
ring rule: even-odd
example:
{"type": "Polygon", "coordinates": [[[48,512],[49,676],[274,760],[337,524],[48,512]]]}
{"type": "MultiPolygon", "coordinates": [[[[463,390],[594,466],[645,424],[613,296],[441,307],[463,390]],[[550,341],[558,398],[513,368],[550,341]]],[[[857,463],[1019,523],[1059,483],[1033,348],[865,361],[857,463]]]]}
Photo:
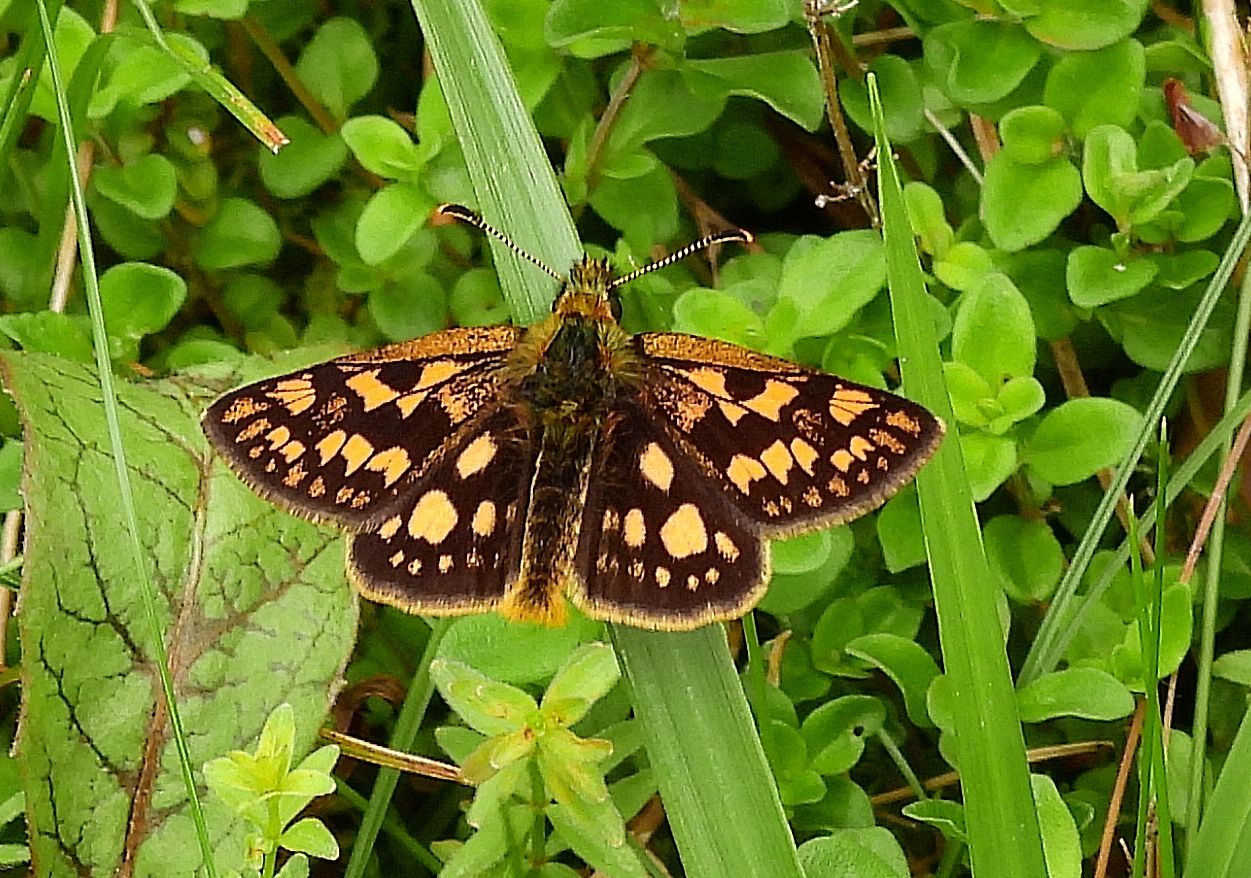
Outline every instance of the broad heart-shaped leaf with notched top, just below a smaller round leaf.
{"type": "Polygon", "coordinates": [[[1025,165],[1001,150],[986,165],[981,216],[1001,250],[1037,244],[1081,201],[1081,175],[1062,156],[1025,165]]]}

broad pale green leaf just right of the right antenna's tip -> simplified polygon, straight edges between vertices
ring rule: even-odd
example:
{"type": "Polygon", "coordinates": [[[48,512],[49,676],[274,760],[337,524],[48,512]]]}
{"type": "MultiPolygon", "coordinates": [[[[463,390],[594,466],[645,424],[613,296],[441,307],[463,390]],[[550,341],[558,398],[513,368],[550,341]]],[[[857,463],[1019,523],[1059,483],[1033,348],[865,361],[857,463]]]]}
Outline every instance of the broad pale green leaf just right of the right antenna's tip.
{"type": "Polygon", "coordinates": [[[787,251],[778,301],[791,303],[799,320],[791,339],[843,329],[886,283],[882,238],[876,231],[804,235],[787,251]]]}

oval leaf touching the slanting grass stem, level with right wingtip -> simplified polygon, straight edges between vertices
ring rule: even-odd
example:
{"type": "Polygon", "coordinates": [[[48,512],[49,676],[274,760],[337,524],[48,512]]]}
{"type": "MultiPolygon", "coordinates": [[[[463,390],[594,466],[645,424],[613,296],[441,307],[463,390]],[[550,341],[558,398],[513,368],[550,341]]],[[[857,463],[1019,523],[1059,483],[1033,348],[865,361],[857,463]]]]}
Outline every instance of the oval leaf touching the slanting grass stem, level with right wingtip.
{"type": "Polygon", "coordinates": [[[1071,485],[1123,458],[1140,429],[1142,415],[1125,403],[1071,399],[1042,419],[1022,460],[1051,484],[1071,485]]]}

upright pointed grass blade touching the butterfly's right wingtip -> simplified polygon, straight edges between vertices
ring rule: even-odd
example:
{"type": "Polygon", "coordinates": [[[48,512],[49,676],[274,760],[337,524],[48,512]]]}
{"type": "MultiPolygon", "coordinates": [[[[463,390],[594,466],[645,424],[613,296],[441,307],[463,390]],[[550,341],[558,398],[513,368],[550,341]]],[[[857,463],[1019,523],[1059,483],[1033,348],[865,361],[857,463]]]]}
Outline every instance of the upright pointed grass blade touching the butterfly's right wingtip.
{"type": "MultiPolygon", "coordinates": [[[[871,80],[872,83],[872,80],[871,80]]],[[[878,199],[887,283],[908,395],[955,423],[924,281],[886,139],[876,83],[869,86],[879,156],[878,199]]],[[[978,875],[1045,875],[1025,739],[993,578],[982,550],[960,443],[950,436],[917,477],[946,674],[951,680],[965,820],[978,875]]]]}

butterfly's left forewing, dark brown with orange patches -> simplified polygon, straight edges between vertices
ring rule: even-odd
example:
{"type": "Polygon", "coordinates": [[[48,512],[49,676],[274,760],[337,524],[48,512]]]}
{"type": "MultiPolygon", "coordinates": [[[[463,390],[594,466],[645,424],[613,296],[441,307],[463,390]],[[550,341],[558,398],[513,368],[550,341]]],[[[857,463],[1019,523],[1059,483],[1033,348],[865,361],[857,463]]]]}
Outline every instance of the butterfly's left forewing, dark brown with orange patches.
{"type": "Polygon", "coordinates": [[[233,390],[204,429],[259,494],[364,527],[495,399],[513,326],[449,329],[233,390]]]}

